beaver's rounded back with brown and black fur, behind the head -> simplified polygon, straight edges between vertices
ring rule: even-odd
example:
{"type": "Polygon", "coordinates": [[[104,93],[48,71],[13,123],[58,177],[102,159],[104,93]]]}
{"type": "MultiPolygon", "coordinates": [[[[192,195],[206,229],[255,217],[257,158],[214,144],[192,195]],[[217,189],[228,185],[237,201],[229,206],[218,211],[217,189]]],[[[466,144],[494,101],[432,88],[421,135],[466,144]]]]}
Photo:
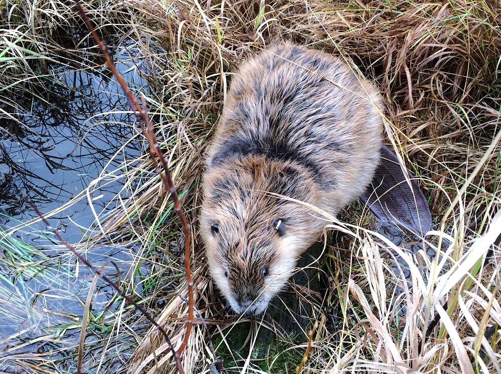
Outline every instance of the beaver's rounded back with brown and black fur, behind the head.
{"type": "Polygon", "coordinates": [[[332,201],[348,204],[372,178],[383,129],[380,107],[374,87],[339,59],[278,45],[235,73],[208,171],[250,155],[295,161],[325,192],[321,208],[332,212],[332,201]]]}

